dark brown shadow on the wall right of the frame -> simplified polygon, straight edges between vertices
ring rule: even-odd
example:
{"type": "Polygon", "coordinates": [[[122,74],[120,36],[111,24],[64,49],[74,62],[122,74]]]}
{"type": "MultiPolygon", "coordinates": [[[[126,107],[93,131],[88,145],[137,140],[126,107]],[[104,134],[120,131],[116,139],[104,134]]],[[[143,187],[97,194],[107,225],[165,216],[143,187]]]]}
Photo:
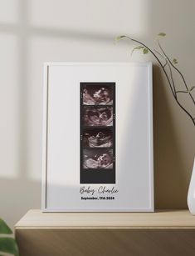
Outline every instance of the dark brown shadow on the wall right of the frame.
{"type": "MultiPolygon", "coordinates": [[[[191,169],[187,167],[188,161],[178,145],[167,93],[171,91],[166,80],[163,81],[162,70],[154,65],[155,208],[187,208],[191,169]],[[188,178],[184,173],[188,174],[188,178]]],[[[173,104],[177,105],[174,99],[173,104]]]]}

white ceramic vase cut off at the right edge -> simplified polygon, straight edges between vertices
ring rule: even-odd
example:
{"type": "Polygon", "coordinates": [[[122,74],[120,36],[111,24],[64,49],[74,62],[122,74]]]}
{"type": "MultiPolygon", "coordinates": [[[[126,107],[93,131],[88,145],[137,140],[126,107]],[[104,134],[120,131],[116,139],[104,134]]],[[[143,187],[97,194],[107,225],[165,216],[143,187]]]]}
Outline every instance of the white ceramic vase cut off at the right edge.
{"type": "Polygon", "coordinates": [[[195,215],[195,158],[193,162],[193,172],[188,188],[188,208],[190,213],[195,215]]]}

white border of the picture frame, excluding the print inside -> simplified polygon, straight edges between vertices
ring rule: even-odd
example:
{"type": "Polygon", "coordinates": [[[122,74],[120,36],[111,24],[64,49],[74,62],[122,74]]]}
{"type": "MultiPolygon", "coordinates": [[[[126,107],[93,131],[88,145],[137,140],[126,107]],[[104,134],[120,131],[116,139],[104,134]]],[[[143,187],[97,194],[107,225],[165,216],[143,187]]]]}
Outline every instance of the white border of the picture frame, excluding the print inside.
{"type": "Polygon", "coordinates": [[[42,107],[42,181],[41,181],[41,211],[42,212],[154,212],[154,128],[153,128],[153,66],[147,63],[76,63],[76,62],[46,62],[43,64],[43,107],[42,107]],[[123,209],[51,209],[47,208],[47,145],[48,145],[48,118],[49,118],[49,71],[51,66],[139,66],[147,67],[149,72],[149,208],[123,208],[123,209]]]}

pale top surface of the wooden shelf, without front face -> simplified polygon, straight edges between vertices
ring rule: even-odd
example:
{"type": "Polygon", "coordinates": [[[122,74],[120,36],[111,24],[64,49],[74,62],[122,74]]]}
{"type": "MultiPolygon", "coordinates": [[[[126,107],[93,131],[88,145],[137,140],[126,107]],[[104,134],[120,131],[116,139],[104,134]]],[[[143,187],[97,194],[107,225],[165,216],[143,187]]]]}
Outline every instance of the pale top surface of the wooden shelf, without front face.
{"type": "Polygon", "coordinates": [[[16,228],[195,228],[188,210],[156,213],[41,213],[30,210],[16,228]]]}

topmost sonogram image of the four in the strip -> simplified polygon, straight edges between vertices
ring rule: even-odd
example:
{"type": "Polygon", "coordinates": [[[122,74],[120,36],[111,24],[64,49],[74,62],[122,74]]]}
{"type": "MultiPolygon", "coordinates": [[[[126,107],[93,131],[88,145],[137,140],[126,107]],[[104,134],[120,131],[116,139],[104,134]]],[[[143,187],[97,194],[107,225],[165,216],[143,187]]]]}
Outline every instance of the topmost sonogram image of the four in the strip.
{"type": "Polygon", "coordinates": [[[109,85],[85,85],[82,91],[84,105],[112,105],[113,88],[109,85]]]}

